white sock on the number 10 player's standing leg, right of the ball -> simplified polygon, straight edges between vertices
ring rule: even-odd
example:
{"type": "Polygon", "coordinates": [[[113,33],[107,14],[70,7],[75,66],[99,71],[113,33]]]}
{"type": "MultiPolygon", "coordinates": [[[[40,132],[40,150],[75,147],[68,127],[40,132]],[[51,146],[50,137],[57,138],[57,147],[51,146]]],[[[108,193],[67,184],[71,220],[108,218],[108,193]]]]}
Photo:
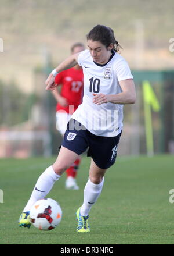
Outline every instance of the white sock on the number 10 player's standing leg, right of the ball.
{"type": "Polygon", "coordinates": [[[92,205],[95,204],[97,199],[99,198],[104,183],[104,177],[102,182],[99,184],[94,184],[93,182],[88,179],[88,182],[86,183],[85,189],[84,189],[84,202],[81,206],[81,215],[87,216],[92,205]]]}

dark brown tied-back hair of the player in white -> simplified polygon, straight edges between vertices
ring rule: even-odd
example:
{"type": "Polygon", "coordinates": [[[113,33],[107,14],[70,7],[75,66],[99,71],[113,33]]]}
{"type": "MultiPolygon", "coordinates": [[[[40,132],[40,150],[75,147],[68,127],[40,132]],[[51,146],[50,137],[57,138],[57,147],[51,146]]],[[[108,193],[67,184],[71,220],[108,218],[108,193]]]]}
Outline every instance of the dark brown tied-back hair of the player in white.
{"type": "Polygon", "coordinates": [[[92,30],[86,35],[87,40],[100,41],[103,45],[108,47],[110,44],[113,44],[113,50],[118,52],[121,45],[118,44],[118,41],[115,39],[114,31],[110,27],[103,25],[97,25],[93,27],[92,30]]]}

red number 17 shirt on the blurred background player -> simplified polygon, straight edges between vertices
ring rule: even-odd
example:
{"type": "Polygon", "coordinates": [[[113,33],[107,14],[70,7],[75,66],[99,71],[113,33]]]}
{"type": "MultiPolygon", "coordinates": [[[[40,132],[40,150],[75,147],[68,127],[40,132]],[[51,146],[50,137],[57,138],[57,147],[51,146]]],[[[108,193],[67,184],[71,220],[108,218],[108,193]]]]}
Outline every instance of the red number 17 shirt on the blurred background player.
{"type": "MultiPolygon", "coordinates": [[[[82,103],[82,94],[84,89],[83,70],[81,68],[75,69],[74,67],[64,70],[57,74],[55,77],[55,83],[62,85],[60,95],[67,99],[69,105],[74,106],[75,111],[78,108],[78,105],[82,103]]],[[[62,109],[69,113],[69,105],[61,106],[57,103],[56,111],[60,111],[62,109]]]]}

